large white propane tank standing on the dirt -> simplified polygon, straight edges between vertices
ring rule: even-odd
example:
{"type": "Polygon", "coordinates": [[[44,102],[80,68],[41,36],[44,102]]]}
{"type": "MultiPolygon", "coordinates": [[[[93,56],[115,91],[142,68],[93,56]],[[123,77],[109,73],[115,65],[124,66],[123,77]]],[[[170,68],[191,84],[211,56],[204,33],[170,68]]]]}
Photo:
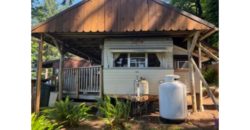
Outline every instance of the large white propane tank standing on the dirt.
{"type": "Polygon", "coordinates": [[[159,87],[160,117],[168,120],[185,120],[187,117],[186,85],[178,75],[166,75],[159,87]]]}

